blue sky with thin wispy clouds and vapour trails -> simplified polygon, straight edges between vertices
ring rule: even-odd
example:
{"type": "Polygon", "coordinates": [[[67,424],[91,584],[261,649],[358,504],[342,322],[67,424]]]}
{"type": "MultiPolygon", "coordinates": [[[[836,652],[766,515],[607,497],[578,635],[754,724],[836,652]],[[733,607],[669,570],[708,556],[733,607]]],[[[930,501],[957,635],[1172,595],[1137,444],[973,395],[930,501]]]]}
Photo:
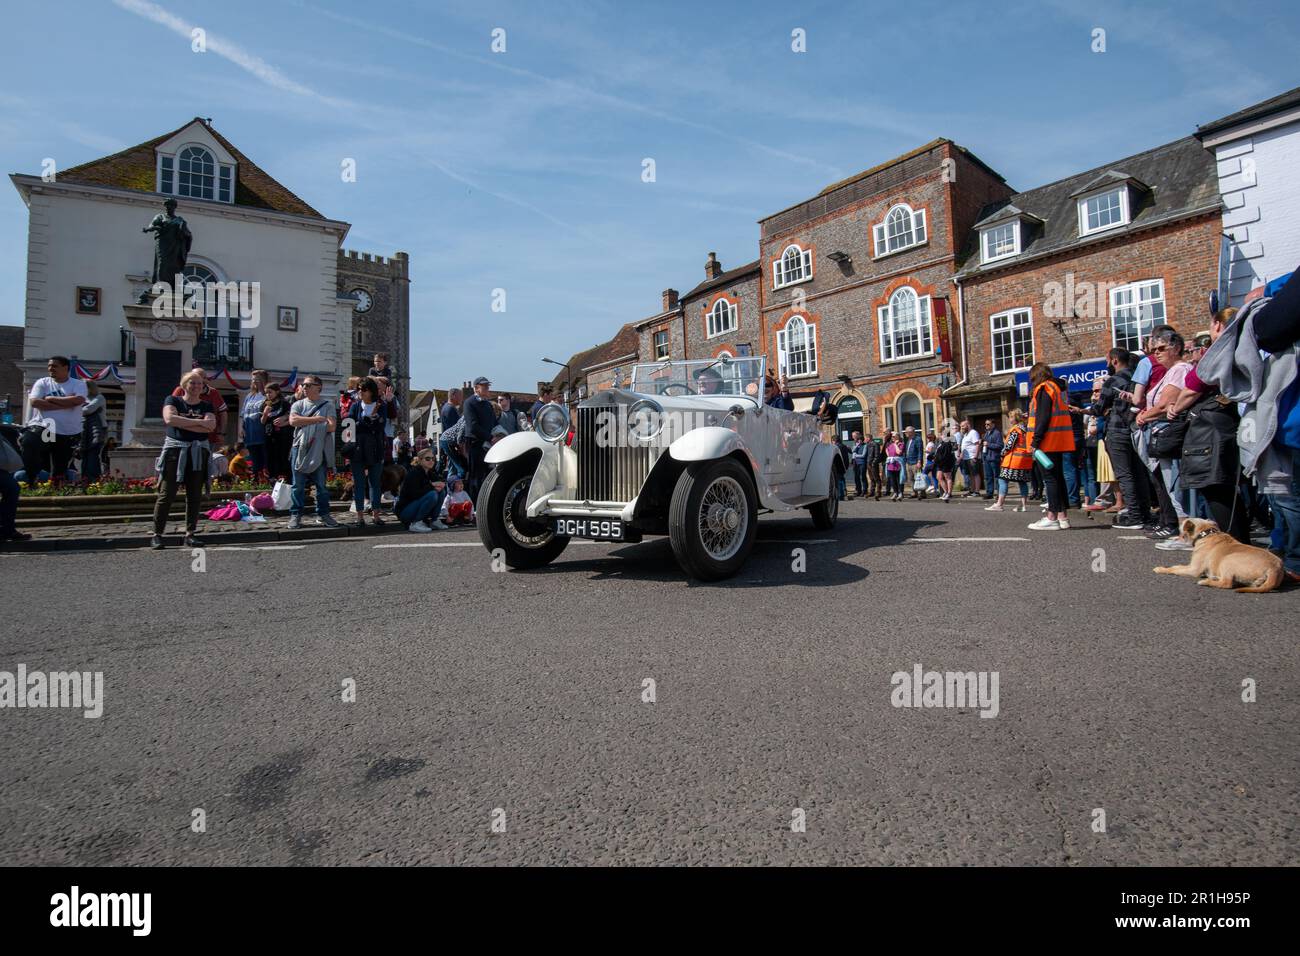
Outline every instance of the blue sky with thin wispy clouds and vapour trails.
{"type": "MultiPolygon", "coordinates": [[[[48,0],[5,26],[5,173],[212,117],[347,248],[411,255],[415,388],[530,390],[710,251],[751,261],[760,217],[936,137],[1031,189],[1300,86],[1294,1],[48,0]]],[[[10,187],[0,324],[26,239],[10,187]]]]}

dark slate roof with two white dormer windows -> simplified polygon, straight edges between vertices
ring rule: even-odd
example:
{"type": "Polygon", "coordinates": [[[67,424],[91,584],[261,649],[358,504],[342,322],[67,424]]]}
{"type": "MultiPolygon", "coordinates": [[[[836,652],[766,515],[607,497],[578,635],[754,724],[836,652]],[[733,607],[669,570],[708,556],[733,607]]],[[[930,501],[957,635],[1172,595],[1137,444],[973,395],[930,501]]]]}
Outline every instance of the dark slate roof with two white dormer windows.
{"type": "Polygon", "coordinates": [[[1026,225],[1022,251],[1009,259],[980,264],[979,232],[971,230],[959,256],[958,278],[1015,268],[1028,259],[1105,242],[1171,222],[1197,212],[1222,209],[1214,156],[1195,137],[1184,137],[1154,150],[1076,173],[1065,179],[1017,193],[980,209],[976,221],[996,222],[1009,207],[1043,220],[1026,225]],[[1093,183],[1136,181],[1132,221],[1093,235],[1079,235],[1076,195],[1093,183]],[[1140,189],[1147,186],[1147,189],[1140,189]]]}

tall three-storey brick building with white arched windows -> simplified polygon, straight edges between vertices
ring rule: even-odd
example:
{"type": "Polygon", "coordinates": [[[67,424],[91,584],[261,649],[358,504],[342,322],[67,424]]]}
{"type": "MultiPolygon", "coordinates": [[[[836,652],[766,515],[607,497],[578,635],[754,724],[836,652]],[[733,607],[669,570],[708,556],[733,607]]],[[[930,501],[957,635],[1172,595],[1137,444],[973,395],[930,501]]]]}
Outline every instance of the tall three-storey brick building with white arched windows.
{"type": "Polygon", "coordinates": [[[933,428],[961,375],[952,276],[1010,186],[935,139],[759,221],[760,334],[797,407],[827,393],[838,429],[933,428]]]}

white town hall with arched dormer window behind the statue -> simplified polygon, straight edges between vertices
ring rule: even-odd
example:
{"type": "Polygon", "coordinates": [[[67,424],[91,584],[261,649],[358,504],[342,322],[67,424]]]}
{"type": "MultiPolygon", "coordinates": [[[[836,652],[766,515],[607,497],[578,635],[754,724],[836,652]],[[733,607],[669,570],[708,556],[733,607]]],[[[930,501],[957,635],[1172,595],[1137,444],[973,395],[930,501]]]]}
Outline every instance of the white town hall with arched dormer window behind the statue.
{"type": "MultiPolygon", "coordinates": [[[[142,230],[168,198],[177,200],[176,212],[194,235],[187,281],[260,287],[256,324],[209,306],[192,352],[186,352],[209,377],[226,369],[213,384],[233,408],[240,393],[230,382],[244,388],[252,368],[268,369],[272,381],[290,378],[294,369],[317,373],[326,395],[337,395],[338,382],[352,375],[354,341],[360,341],[354,319],[364,323],[374,295],[355,294],[341,277],[341,260],[346,268],[358,255],[341,248],[350,225],[313,209],[209,122],[195,118],[112,156],[10,178],[29,209],[18,363],[25,393],[46,375],[49,355],[69,355],[90,375],[113,365],[99,385],[118,442],[131,442],[131,423],[155,418],[136,407],[144,397],[135,389],[135,337],[124,306],[150,287],[153,238],[142,230]]],[[[374,261],[387,265],[380,256],[374,261]]],[[[391,261],[404,277],[406,254],[391,261]]],[[[406,280],[399,281],[404,300],[406,280]]],[[[395,359],[404,358],[404,346],[395,359]]],[[[233,440],[235,416],[230,419],[233,440]]]]}

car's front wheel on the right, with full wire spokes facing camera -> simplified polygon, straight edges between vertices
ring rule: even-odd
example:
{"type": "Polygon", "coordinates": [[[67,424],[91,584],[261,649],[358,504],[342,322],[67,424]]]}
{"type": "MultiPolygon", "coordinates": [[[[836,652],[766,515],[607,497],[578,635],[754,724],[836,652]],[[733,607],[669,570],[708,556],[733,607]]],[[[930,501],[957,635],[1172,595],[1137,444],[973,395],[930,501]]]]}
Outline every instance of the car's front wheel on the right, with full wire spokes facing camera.
{"type": "Polygon", "coordinates": [[[734,459],[694,462],[677,479],[668,540],[682,570],[706,581],[729,578],[754,548],[758,501],[734,459]]]}

